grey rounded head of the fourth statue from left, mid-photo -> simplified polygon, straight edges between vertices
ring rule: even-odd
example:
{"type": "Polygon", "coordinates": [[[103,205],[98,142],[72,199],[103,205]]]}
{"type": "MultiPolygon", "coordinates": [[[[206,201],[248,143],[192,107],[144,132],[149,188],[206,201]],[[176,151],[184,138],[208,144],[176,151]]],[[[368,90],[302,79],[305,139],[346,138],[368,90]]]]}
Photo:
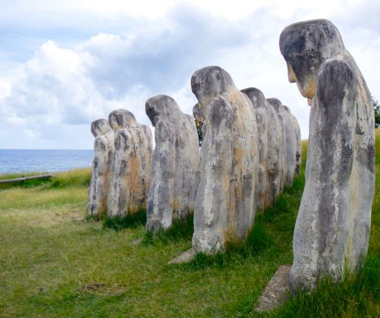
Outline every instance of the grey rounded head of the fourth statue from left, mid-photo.
{"type": "Polygon", "coordinates": [[[200,68],[191,76],[191,91],[203,109],[214,97],[234,89],[237,88],[231,76],[219,66],[200,68]]]}

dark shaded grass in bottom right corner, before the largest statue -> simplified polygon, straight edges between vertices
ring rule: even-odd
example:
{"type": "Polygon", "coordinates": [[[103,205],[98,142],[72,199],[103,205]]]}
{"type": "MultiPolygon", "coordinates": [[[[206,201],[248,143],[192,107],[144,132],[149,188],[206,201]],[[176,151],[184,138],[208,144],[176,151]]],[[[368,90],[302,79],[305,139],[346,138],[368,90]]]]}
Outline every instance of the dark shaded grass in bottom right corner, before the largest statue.
{"type": "Polygon", "coordinates": [[[341,282],[327,277],[312,292],[289,295],[272,317],[379,317],[379,299],[380,258],[369,255],[363,268],[341,282]]]}

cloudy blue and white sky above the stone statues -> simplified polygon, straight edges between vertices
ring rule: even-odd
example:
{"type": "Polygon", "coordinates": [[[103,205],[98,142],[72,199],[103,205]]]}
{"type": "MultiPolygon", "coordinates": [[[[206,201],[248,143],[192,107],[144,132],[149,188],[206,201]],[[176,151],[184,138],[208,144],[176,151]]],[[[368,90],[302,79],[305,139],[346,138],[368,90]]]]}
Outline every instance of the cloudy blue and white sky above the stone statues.
{"type": "Polygon", "coordinates": [[[92,149],[91,122],[173,97],[192,113],[190,79],[224,68],[240,89],[277,97],[308,135],[310,107],[278,48],[285,26],[330,19],[380,100],[379,0],[0,0],[0,149],[92,149]]]}

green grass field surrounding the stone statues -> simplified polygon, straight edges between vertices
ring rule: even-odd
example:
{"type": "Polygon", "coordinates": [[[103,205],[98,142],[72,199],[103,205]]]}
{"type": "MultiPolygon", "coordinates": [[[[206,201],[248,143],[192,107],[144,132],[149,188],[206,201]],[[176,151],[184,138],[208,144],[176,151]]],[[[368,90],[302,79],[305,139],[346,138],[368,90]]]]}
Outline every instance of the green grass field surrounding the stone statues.
{"type": "Polygon", "coordinates": [[[276,205],[257,214],[247,243],[184,265],[168,261],[191,247],[191,222],[151,237],[141,218],[116,230],[86,220],[89,169],[2,185],[0,317],[379,317],[379,130],[376,163],[365,268],[261,314],[254,309],[267,282],[279,265],[292,263],[305,165],[276,205]],[[144,241],[131,245],[137,238],[144,241]]]}

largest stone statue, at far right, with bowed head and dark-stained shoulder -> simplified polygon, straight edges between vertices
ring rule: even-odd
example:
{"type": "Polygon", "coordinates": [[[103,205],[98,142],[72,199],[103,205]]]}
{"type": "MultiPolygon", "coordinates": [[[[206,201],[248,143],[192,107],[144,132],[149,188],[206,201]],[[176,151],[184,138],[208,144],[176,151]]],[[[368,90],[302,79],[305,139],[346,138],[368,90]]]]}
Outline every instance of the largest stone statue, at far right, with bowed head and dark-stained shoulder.
{"type": "Polygon", "coordinates": [[[374,196],[374,111],[365,80],[328,20],[287,26],[289,82],[311,104],[305,189],[294,229],[290,286],[340,279],[365,257],[374,196]],[[311,102],[311,103],[310,103],[311,102]]]}

